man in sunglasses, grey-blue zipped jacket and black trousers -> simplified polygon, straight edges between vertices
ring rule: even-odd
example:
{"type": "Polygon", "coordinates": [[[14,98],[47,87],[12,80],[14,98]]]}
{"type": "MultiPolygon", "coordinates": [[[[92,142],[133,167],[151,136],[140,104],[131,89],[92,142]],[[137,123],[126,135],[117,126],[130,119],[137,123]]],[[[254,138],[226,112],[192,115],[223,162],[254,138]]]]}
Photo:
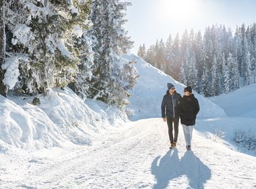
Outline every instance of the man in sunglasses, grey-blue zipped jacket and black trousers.
{"type": "Polygon", "coordinates": [[[179,103],[181,102],[181,94],[177,93],[175,87],[171,83],[167,83],[168,90],[162,99],[162,119],[167,120],[168,133],[170,139],[170,149],[177,144],[179,133],[179,103]],[[174,138],[172,135],[172,123],[174,126],[174,138]]]}

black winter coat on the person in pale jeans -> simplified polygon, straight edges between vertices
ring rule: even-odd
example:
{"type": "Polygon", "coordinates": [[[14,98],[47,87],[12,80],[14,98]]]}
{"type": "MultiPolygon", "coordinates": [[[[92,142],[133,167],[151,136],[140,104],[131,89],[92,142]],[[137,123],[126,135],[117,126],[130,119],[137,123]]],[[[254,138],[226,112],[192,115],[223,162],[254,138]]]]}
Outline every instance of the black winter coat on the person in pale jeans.
{"type": "Polygon", "coordinates": [[[183,96],[181,103],[179,104],[181,124],[187,126],[195,125],[195,119],[197,113],[199,113],[199,109],[199,103],[194,94],[191,94],[189,97],[183,96]]]}

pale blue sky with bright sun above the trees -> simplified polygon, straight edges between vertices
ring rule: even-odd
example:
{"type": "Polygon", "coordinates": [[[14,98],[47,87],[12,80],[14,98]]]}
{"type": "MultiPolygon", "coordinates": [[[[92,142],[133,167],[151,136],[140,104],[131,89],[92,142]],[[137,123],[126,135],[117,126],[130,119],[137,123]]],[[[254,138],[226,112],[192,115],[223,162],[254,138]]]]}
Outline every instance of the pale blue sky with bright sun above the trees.
{"type": "Polygon", "coordinates": [[[180,36],[187,28],[204,31],[213,24],[231,27],[256,22],[256,0],[128,0],[133,5],[127,10],[125,28],[137,53],[139,44],[148,48],[156,40],[164,42],[169,34],[180,36]]]}

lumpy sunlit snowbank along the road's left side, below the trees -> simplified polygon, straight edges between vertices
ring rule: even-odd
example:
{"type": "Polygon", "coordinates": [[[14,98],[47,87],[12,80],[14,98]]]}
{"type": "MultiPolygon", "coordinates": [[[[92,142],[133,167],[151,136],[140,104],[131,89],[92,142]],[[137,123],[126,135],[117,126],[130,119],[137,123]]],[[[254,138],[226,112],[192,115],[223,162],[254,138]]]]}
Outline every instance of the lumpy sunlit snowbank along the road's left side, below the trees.
{"type": "Polygon", "coordinates": [[[125,120],[115,107],[91,100],[88,106],[70,88],[37,97],[40,105],[34,106],[34,97],[0,95],[0,148],[3,143],[28,151],[68,141],[90,145],[101,129],[125,120]]]}

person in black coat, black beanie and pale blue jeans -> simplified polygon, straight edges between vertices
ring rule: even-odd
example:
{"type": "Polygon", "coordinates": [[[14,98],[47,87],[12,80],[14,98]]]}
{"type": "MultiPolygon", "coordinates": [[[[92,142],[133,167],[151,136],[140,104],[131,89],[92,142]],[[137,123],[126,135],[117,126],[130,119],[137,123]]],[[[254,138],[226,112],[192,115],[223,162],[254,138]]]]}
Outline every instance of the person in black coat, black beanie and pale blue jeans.
{"type": "Polygon", "coordinates": [[[193,127],[195,125],[197,113],[199,113],[199,103],[194,94],[192,94],[191,86],[184,88],[183,92],[184,96],[179,104],[179,113],[181,116],[186,148],[187,150],[190,150],[193,127]]]}

